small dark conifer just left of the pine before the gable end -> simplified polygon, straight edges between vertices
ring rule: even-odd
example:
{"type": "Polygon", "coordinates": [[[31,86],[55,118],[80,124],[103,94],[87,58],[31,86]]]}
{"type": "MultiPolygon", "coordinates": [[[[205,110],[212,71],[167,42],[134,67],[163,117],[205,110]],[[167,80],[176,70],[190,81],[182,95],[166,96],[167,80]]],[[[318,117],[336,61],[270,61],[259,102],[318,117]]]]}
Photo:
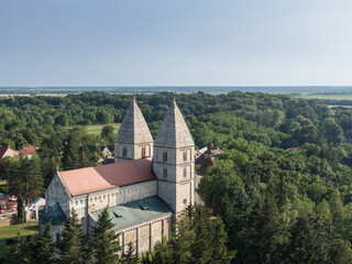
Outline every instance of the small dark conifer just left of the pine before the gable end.
{"type": "Polygon", "coordinates": [[[54,260],[54,245],[52,243],[52,223],[47,223],[43,234],[38,234],[31,244],[32,263],[51,264],[54,260]]]}

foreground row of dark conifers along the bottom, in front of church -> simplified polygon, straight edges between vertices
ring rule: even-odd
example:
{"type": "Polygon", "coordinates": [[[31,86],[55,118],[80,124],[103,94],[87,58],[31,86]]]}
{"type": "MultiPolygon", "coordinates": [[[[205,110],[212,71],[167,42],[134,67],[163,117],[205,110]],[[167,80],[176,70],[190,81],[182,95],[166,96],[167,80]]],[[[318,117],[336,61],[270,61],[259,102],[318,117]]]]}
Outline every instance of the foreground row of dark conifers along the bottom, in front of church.
{"type": "Polygon", "coordinates": [[[82,234],[79,222],[73,211],[64,224],[62,240],[56,243],[52,242],[51,223],[30,242],[19,234],[4,261],[10,264],[227,264],[235,255],[227,249],[228,235],[221,219],[210,220],[202,207],[189,206],[177,223],[177,233],[168,241],[156,243],[153,253],[140,255],[132,243],[122,251],[108,209],[100,213],[90,238],[82,234]]]}

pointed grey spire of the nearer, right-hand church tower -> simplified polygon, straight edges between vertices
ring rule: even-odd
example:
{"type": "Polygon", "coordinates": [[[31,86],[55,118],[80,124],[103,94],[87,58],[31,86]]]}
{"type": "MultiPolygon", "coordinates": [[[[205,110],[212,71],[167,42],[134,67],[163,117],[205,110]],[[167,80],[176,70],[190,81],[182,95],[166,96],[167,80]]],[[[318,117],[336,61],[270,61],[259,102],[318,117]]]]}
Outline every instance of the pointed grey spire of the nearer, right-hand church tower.
{"type": "Polygon", "coordinates": [[[188,127],[174,99],[156,135],[154,146],[176,148],[194,145],[188,127]]]}

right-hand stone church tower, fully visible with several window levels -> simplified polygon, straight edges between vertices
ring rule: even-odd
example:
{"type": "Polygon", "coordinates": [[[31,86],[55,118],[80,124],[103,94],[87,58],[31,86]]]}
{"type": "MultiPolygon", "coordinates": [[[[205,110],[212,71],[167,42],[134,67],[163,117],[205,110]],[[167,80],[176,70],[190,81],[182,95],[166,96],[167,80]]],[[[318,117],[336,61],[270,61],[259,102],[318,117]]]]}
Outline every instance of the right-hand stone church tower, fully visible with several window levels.
{"type": "Polygon", "coordinates": [[[154,142],[153,169],[158,196],[182,212],[195,204],[195,143],[174,100],[154,142]]]}

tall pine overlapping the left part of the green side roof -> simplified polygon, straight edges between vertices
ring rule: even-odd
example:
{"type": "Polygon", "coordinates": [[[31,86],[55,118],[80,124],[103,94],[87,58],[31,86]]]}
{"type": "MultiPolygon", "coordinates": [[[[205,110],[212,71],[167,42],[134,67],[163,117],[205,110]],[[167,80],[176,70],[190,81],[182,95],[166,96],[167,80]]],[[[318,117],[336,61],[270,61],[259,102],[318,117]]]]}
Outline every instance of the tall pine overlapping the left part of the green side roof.
{"type": "Polygon", "coordinates": [[[119,260],[118,251],[121,248],[118,240],[119,235],[112,230],[113,226],[108,209],[103,209],[97,224],[92,228],[92,254],[97,264],[113,264],[119,260]]]}

